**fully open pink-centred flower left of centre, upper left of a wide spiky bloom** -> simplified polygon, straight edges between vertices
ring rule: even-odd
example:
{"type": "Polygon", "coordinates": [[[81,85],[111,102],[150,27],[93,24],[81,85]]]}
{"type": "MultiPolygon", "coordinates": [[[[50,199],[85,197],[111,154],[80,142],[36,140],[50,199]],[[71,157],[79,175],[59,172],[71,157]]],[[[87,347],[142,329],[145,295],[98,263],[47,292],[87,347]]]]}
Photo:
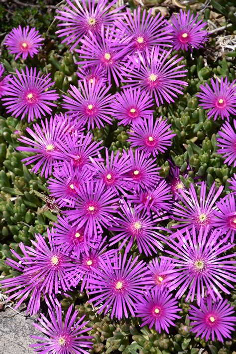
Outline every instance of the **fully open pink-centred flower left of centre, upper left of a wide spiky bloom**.
{"type": "Polygon", "coordinates": [[[102,227],[111,224],[112,214],[118,207],[118,198],[114,197],[112,189],[107,190],[103,181],[94,180],[82,183],[77,190],[75,209],[68,210],[69,220],[74,221],[78,227],[84,227],[89,238],[97,238],[102,233],[102,227]]]}

